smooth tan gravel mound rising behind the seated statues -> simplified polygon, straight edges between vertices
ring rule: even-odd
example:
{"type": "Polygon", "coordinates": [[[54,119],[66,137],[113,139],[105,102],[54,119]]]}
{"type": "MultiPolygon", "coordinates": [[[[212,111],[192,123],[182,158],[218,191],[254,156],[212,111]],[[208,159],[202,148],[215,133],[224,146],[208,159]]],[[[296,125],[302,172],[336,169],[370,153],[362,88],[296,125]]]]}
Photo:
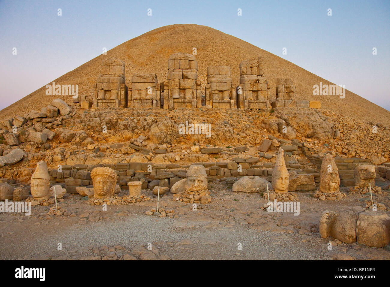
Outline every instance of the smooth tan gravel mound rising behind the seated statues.
{"type": "MultiPolygon", "coordinates": [[[[93,87],[99,75],[101,62],[106,57],[115,57],[125,62],[126,84],[129,86],[133,73],[156,73],[162,82],[167,75],[168,57],[177,52],[192,53],[197,48],[195,58],[198,62],[198,79],[202,90],[207,84],[207,66],[230,66],[235,85],[239,84],[239,63],[245,59],[261,56],[265,77],[271,83],[271,97],[275,97],[275,79],[291,78],[297,88],[297,100],[321,100],[323,109],[364,122],[381,122],[390,126],[390,112],[365,100],[357,94],[346,91],[346,97],[313,96],[313,85],[332,84],[309,71],[258,48],[237,37],[225,34],[207,26],[177,24],[151,30],[109,50],[107,55],[99,55],[80,67],[53,79],[56,84],[78,84],[79,94],[92,99],[93,87]]],[[[48,83],[48,84],[51,84],[48,83]]],[[[47,96],[45,86],[28,94],[21,100],[0,111],[0,118],[23,116],[30,110],[39,111],[55,98],[72,102],[71,96],[47,96]]]]}

